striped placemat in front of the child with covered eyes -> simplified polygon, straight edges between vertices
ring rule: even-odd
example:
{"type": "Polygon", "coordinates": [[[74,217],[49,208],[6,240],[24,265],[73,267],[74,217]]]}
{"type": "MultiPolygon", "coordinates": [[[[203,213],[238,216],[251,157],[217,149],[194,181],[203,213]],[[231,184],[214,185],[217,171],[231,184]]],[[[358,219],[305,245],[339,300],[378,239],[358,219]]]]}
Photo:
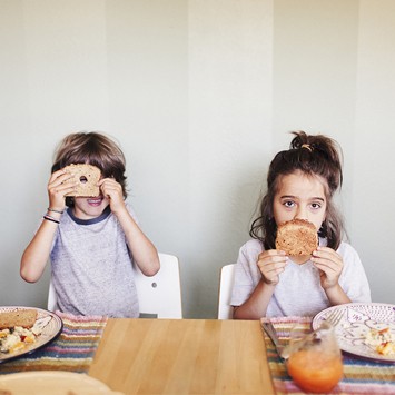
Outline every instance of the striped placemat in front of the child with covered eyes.
{"type": "Polygon", "coordinates": [[[0,374],[27,371],[88,373],[107,324],[106,316],[75,316],[56,312],[63,320],[60,335],[27,356],[0,364],[0,374]]]}

